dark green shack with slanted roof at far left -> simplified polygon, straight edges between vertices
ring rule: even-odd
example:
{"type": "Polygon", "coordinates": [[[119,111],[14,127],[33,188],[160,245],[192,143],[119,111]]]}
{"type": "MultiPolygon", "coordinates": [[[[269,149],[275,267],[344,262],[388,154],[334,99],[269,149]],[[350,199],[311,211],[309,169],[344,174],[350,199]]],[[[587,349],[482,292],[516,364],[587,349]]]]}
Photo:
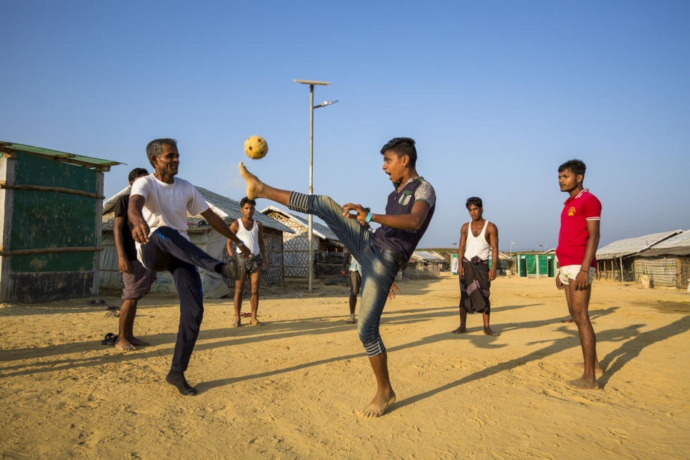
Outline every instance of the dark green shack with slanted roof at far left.
{"type": "Polygon", "coordinates": [[[117,161],[0,142],[0,301],[99,294],[104,172],[117,161]]]}

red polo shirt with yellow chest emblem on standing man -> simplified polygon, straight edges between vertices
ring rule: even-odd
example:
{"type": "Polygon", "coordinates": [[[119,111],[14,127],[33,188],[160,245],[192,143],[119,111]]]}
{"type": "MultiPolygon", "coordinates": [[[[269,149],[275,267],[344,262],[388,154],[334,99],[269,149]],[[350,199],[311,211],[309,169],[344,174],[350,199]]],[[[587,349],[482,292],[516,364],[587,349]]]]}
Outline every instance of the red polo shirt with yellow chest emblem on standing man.
{"type": "MultiPolygon", "coordinates": [[[[561,231],[556,257],[559,264],[580,265],[589,241],[587,221],[601,220],[601,201],[583,189],[574,198],[566,199],[561,212],[561,231]]],[[[596,267],[596,258],[591,262],[596,267]]]]}

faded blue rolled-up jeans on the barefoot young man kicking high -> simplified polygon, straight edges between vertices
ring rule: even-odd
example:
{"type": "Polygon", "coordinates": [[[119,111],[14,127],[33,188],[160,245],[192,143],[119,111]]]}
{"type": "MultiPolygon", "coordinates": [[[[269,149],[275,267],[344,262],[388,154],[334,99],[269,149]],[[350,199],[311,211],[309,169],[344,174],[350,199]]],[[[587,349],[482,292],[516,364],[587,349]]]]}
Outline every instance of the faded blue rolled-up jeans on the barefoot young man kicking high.
{"type": "Polygon", "coordinates": [[[292,192],[290,209],[314,214],[323,219],[361,265],[361,304],[357,332],[367,356],[386,351],[379,323],[391,285],[398,274],[399,255],[371,243],[371,232],[356,219],[343,216],[343,209],[329,196],[292,192]],[[294,197],[294,199],[293,199],[294,197]]]}

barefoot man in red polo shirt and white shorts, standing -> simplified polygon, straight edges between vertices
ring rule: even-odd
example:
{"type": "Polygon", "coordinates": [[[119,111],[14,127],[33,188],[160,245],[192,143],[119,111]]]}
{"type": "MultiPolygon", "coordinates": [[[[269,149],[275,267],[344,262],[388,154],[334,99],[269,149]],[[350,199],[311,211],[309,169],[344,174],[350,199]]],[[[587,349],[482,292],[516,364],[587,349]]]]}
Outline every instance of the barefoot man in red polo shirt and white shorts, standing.
{"type": "Polygon", "coordinates": [[[596,336],[589,320],[591,281],[596,272],[596,246],[599,246],[601,202],[582,186],[586,166],[583,161],[570,160],[559,166],[559,186],[570,196],[561,212],[561,231],[556,257],[561,266],[556,274],[556,287],[565,289],[568,311],[580,336],[584,374],[568,382],[579,389],[599,389],[596,374],[601,374],[596,359],[596,336]]]}

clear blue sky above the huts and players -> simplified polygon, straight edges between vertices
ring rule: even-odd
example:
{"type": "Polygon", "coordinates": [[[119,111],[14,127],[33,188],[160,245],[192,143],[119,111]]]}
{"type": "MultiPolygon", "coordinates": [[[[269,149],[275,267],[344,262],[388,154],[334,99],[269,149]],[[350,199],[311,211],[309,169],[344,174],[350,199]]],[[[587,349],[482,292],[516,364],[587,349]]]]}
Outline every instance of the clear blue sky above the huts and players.
{"type": "MultiPolygon", "coordinates": [[[[690,229],[688,1],[0,1],[0,140],[121,161],[179,140],[180,177],[241,199],[237,163],[384,212],[379,149],[416,139],[451,247],[484,199],[500,248],[555,247],[557,168],[586,162],[601,244],[690,229]],[[242,146],[264,136],[269,154],[242,146]]],[[[269,204],[261,200],[257,207],[269,204]]]]}

